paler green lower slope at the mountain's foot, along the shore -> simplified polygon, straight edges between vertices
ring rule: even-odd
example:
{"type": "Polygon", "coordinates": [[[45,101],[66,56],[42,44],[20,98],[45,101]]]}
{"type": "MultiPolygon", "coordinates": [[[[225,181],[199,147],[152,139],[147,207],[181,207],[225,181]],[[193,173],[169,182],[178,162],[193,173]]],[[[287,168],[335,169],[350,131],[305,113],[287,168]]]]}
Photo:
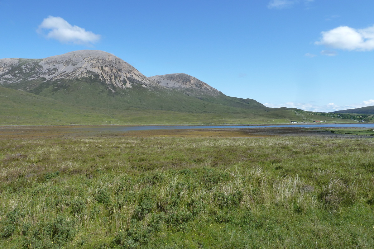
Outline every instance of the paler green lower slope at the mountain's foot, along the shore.
{"type": "MultiPolygon", "coordinates": [[[[38,96],[24,91],[0,87],[0,124],[234,124],[265,122],[259,115],[252,115],[252,110],[243,113],[225,112],[177,112],[162,110],[144,110],[119,106],[85,106],[59,102],[47,97],[38,96]],[[255,116],[255,118],[250,118],[255,116]]],[[[82,97],[83,98],[83,97],[82,97]]],[[[84,99],[84,98],[83,98],[84,99]]],[[[99,102],[100,100],[98,100],[99,102]]],[[[72,100],[73,102],[73,100],[72,100]]],[[[116,100],[113,100],[115,105],[116,100]]],[[[285,115],[292,115],[285,112],[285,115]]]]}

